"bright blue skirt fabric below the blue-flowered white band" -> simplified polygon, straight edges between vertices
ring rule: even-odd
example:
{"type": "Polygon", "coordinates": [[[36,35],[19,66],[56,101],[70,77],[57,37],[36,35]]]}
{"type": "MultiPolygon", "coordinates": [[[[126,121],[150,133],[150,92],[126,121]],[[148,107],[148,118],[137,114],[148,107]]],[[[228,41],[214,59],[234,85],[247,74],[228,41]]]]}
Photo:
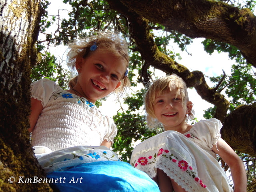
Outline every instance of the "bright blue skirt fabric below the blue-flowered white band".
{"type": "Polygon", "coordinates": [[[146,173],[120,161],[84,163],[47,175],[60,192],[160,192],[146,173]]]}

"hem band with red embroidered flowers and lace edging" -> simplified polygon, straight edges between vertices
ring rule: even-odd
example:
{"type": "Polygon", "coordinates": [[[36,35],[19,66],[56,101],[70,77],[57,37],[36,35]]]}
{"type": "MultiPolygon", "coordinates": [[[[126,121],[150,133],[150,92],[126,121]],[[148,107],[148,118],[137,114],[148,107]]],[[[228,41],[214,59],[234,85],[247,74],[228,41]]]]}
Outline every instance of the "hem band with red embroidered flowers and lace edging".
{"type": "Polygon", "coordinates": [[[186,191],[209,191],[203,183],[203,178],[198,177],[196,170],[180,154],[174,151],[171,153],[163,146],[158,153],[149,152],[147,155],[145,153],[142,155],[136,157],[132,166],[146,172],[150,178],[156,176],[156,170],[159,168],[186,191]]]}

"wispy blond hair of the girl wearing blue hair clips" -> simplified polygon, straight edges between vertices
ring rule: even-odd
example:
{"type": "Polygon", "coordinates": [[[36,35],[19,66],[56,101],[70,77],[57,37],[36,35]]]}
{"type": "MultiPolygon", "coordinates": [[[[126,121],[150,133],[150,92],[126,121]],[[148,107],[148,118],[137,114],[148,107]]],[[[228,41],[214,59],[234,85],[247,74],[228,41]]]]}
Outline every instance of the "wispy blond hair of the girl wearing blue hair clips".
{"type": "MultiPolygon", "coordinates": [[[[93,51],[90,50],[90,47],[93,44],[96,44],[100,50],[110,51],[114,56],[122,58],[126,62],[126,69],[128,69],[128,44],[122,36],[112,32],[97,32],[96,35],[87,36],[86,38],[80,38],[71,42],[69,44],[70,51],[68,52],[67,65],[74,70],[76,68],[77,58],[86,58],[93,53],[93,51]]],[[[130,87],[130,80],[125,74],[126,73],[124,73],[121,79],[121,85],[115,90],[118,96],[121,96],[125,92],[126,88],[130,87]]],[[[78,76],[72,78],[68,86],[73,88],[77,79],[78,76]]]]}

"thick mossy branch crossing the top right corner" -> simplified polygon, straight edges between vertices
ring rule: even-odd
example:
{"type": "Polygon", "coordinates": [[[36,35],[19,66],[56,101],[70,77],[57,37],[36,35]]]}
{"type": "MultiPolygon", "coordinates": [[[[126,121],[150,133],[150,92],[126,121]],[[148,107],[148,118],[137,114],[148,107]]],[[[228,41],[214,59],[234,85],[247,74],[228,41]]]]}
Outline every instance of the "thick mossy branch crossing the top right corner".
{"type": "MultiPolygon", "coordinates": [[[[108,0],[110,4],[112,1],[108,0]]],[[[166,31],[232,44],[256,67],[256,16],[249,9],[208,0],[119,0],[118,3],[150,22],[162,24],[166,31]]]]}

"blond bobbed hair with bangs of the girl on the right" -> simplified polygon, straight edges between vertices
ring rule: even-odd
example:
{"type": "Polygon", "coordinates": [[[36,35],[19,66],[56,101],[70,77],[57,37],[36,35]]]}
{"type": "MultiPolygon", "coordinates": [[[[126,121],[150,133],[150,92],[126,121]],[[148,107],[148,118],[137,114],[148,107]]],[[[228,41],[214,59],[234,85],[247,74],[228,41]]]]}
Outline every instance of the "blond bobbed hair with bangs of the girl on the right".
{"type": "MultiPolygon", "coordinates": [[[[158,95],[164,94],[168,91],[172,90],[178,90],[177,95],[181,96],[182,99],[182,106],[184,109],[186,109],[186,104],[188,102],[188,91],[187,86],[184,80],[177,76],[176,74],[171,74],[163,78],[159,78],[157,80],[154,80],[151,82],[148,86],[148,89],[146,90],[144,94],[144,104],[145,104],[145,110],[147,115],[147,126],[150,129],[156,129],[157,126],[161,125],[161,123],[157,120],[155,114],[154,114],[154,103],[155,99],[158,95]]],[[[194,118],[194,111],[190,110],[189,113],[186,115],[188,119],[194,118]]],[[[157,131],[158,132],[158,131],[157,131]]]]}

